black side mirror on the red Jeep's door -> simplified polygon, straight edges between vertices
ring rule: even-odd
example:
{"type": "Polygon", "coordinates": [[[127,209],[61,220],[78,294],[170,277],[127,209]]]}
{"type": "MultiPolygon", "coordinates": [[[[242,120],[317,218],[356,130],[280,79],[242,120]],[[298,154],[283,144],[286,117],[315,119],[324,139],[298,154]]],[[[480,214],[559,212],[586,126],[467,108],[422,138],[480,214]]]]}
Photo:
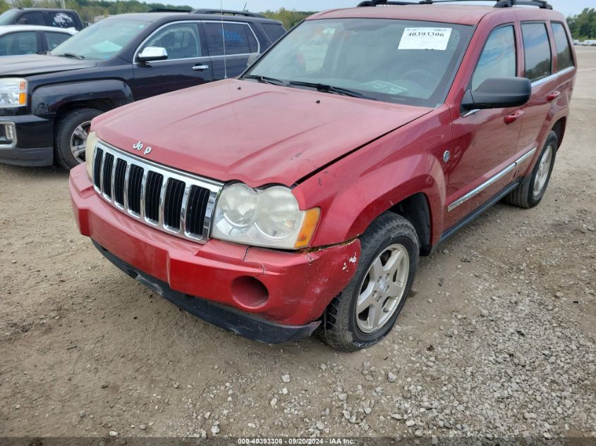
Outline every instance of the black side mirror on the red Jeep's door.
{"type": "Polygon", "coordinates": [[[478,89],[463,95],[461,106],[466,110],[506,109],[521,107],[530,100],[532,82],[526,78],[491,78],[478,89]]]}

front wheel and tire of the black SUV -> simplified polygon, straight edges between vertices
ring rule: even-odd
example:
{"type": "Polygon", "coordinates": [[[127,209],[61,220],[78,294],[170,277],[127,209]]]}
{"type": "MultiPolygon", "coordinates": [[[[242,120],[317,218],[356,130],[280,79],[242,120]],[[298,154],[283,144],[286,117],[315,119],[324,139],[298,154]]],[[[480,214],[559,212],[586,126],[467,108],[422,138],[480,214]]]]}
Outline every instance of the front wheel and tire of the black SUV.
{"type": "Polygon", "coordinates": [[[70,171],[71,168],[85,162],[85,142],[89,132],[91,120],[102,114],[97,109],[75,109],[66,113],[56,126],[56,139],[54,141],[54,150],[56,161],[70,171]],[[79,156],[73,152],[83,150],[79,156]]]}

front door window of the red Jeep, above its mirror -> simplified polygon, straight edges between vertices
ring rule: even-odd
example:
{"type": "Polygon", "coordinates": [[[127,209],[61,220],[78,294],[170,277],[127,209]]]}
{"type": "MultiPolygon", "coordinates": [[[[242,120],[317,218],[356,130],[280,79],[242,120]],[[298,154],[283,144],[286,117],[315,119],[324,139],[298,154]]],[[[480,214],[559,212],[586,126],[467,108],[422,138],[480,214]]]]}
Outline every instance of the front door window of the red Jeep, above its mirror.
{"type": "Polygon", "coordinates": [[[517,75],[516,35],[513,25],[493,30],[478,58],[472,76],[472,89],[489,78],[514,78],[517,75]]]}

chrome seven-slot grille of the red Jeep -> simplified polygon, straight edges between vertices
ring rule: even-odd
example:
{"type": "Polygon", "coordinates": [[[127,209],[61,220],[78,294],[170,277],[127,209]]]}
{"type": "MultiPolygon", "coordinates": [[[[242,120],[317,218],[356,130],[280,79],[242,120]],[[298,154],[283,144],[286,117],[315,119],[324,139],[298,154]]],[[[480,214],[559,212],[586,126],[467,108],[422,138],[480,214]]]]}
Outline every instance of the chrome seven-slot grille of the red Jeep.
{"type": "Polygon", "coordinates": [[[99,142],[92,165],[95,190],[147,225],[205,242],[221,183],[199,178],[99,142]]]}

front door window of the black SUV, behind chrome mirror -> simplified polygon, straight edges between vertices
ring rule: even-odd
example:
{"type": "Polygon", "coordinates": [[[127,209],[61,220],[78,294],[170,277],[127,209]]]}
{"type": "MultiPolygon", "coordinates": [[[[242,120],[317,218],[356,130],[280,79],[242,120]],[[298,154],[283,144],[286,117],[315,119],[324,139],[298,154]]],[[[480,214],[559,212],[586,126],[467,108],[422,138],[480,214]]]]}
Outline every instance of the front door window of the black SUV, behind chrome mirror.
{"type": "Polygon", "coordinates": [[[156,32],[139,49],[161,47],[168,51],[168,60],[200,57],[201,44],[196,23],[176,23],[156,32]]]}

